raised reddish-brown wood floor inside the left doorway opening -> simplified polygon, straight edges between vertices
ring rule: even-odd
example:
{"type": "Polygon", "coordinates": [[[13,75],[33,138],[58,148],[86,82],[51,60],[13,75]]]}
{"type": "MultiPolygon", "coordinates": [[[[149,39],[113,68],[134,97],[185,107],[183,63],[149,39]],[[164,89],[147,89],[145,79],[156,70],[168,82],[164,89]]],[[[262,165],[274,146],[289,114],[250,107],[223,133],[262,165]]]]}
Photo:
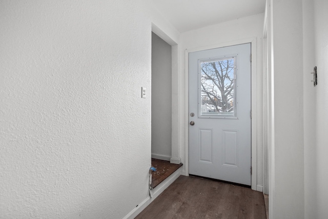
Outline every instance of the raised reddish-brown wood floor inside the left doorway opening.
{"type": "Polygon", "coordinates": [[[155,188],[181,166],[181,163],[171,164],[169,161],[162,161],[152,158],[152,167],[155,167],[156,171],[152,172],[152,184],[150,187],[155,188]]]}

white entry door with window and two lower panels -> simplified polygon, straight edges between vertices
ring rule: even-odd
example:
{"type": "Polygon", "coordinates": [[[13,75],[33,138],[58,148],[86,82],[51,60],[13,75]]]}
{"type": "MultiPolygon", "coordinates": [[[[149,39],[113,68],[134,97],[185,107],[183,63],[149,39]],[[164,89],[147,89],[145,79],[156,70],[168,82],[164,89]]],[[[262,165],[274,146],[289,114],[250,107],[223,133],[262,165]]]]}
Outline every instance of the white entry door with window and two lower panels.
{"type": "Polygon", "coordinates": [[[189,53],[189,173],[251,185],[251,44],[189,53]]]}

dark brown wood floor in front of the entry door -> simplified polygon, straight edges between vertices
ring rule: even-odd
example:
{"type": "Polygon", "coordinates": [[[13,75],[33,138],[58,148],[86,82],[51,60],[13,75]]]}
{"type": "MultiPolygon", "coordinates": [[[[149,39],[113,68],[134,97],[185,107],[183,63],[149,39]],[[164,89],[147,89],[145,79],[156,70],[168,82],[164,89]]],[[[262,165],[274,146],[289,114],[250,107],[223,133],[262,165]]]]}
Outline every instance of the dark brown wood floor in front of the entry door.
{"type": "Polygon", "coordinates": [[[198,177],[179,176],[135,218],[265,219],[261,192],[198,177]]]}

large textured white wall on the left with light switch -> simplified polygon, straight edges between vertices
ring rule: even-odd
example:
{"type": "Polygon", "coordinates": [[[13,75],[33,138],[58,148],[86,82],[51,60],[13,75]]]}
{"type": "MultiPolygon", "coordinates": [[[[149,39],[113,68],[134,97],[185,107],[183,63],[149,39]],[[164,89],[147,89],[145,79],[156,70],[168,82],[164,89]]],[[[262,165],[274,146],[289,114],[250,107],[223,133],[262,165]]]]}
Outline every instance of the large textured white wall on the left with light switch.
{"type": "Polygon", "coordinates": [[[122,218],[148,197],[143,2],[0,2],[0,217],[122,218]]]}

